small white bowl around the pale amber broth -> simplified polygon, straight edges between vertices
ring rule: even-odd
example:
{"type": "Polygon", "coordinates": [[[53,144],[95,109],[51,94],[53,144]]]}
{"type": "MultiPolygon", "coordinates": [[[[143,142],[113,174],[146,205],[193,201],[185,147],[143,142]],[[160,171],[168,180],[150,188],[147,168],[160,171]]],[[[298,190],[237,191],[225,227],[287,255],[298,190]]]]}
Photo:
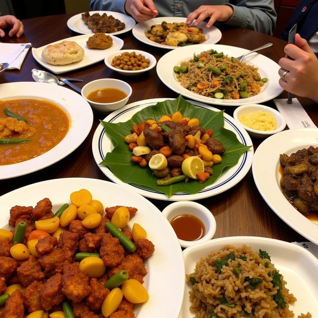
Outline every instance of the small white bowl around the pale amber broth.
{"type": "Polygon", "coordinates": [[[120,79],[95,79],[83,86],[81,94],[82,97],[88,101],[88,103],[98,112],[102,114],[113,112],[125,106],[129,100],[132,93],[132,88],[126,82],[120,79]],[[113,103],[96,103],[92,100],[87,99],[87,95],[100,88],[118,88],[127,94],[122,100],[115,101],[113,103]]]}

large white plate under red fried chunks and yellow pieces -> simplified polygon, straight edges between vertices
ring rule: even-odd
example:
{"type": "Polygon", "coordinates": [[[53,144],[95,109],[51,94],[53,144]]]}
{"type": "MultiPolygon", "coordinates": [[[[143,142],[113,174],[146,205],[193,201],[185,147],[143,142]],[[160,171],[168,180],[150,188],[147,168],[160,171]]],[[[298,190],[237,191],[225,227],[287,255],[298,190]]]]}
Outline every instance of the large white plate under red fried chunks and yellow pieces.
{"type": "Polygon", "coordinates": [[[93,199],[100,200],[104,207],[136,207],[138,212],[129,222],[128,229],[131,230],[134,223],[142,225],[147,231],[147,238],[155,245],[154,254],[145,261],[148,274],[144,277],[144,286],[149,293],[149,300],[135,306],[135,315],[138,318],[179,317],[185,277],[181,247],[167,219],[139,194],[114,183],[89,178],[65,178],[34,183],[0,197],[3,211],[0,225],[4,227],[8,223],[9,211],[14,205],[35,206],[39,200],[48,197],[55,212],[62,204],[70,202],[70,194],[73,191],[83,188],[89,190],[93,199]]]}

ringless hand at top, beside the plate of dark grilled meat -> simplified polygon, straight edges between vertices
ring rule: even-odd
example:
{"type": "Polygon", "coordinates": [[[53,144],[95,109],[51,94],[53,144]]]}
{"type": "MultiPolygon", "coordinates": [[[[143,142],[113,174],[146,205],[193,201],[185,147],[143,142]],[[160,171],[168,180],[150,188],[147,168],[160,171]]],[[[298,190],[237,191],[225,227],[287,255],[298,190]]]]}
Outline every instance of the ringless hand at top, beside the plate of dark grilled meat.
{"type": "Polygon", "coordinates": [[[138,22],[150,20],[158,15],[153,0],[126,0],[125,11],[138,22]]]}

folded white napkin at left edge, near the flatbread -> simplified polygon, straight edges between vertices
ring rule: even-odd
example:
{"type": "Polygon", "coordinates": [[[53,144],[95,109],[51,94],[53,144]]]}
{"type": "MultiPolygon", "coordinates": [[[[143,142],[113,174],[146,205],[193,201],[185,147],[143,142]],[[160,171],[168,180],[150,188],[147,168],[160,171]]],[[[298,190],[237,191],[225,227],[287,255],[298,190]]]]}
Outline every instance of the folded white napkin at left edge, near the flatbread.
{"type": "Polygon", "coordinates": [[[9,63],[7,70],[20,69],[31,43],[0,43],[0,63],[9,63]]]}

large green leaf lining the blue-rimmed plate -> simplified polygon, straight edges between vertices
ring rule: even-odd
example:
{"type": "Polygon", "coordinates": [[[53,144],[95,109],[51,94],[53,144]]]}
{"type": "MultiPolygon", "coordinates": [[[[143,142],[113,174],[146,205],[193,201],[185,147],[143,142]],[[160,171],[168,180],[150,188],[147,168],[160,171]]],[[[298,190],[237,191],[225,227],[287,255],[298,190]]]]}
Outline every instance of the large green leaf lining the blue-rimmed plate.
{"type": "Polygon", "coordinates": [[[236,165],[240,156],[252,147],[240,143],[232,131],[224,128],[223,111],[215,112],[193,106],[184,100],[181,95],[176,100],[165,100],[154,106],[145,107],[126,122],[109,123],[101,121],[101,123],[104,125],[107,135],[111,137],[114,149],[106,154],[105,159],[100,164],[111,169],[114,175],[125,183],[135,184],[148,190],[156,190],[165,193],[168,197],[176,192],[198,193],[206,186],[214,183],[223,169],[236,165]],[[169,186],[158,186],[156,184],[158,178],[152,174],[149,167],[141,168],[130,159],[133,154],[128,149],[124,138],[126,135],[132,134],[132,126],[148,119],[158,121],[162,115],[173,114],[176,111],[179,111],[183,117],[198,118],[200,126],[205,130],[212,129],[213,138],[220,140],[225,147],[222,162],[213,166],[213,175],[204,183],[190,179],[188,183],[179,182],[169,186]]]}

